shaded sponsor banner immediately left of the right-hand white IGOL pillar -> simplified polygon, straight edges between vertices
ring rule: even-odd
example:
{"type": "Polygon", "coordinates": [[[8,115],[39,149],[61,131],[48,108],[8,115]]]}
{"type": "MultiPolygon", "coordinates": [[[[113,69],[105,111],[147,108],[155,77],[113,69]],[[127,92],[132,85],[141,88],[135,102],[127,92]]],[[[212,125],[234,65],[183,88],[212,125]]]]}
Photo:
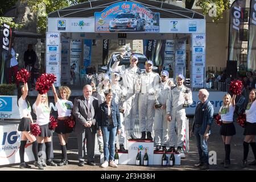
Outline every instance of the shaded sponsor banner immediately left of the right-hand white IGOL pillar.
{"type": "Polygon", "coordinates": [[[185,77],[186,70],[186,40],[178,39],[175,43],[175,75],[182,74],[185,77]]]}

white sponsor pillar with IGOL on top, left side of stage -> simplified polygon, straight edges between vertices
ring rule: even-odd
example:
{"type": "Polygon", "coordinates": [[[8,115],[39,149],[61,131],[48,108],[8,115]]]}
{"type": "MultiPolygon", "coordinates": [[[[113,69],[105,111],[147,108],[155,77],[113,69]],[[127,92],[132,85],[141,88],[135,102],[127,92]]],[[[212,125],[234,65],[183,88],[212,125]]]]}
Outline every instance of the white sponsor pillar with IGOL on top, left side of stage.
{"type": "Polygon", "coordinates": [[[46,73],[56,75],[55,86],[60,86],[60,33],[46,33],[46,73]]]}

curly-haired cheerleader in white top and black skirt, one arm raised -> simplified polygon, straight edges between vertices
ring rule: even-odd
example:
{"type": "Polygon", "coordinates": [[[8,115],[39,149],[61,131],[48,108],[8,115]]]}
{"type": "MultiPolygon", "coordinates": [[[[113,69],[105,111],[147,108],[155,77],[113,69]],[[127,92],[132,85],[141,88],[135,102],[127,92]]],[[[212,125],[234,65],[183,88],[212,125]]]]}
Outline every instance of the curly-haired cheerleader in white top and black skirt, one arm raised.
{"type": "Polygon", "coordinates": [[[62,159],[58,166],[68,165],[68,156],[67,156],[67,144],[68,136],[72,132],[72,128],[69,128],[64,125],[65,120],[69,117],[72,117],[73,103],[68,101],[69,96],[71,95],[71,90],[68,86],[60,86],[59,94],[61,99],[59,99],[55,86],[52,84],[52,92],[54,96],[54,101],[58,111],[58,123],[55,128],[55,132],[59,135],[60,147],[62,152],[62,159]]]}

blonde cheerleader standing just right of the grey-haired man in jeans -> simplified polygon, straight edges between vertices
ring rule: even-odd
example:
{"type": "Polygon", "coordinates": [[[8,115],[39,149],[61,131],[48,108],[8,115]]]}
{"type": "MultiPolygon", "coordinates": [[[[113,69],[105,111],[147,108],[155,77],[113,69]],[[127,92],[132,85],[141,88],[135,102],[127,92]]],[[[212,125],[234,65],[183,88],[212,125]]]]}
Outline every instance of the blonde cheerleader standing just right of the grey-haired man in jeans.
{"type": "Polygon", "coordinates": [[[218,113],[221,116],[222,121],[220,134],[225,145],[225,160],[222,162],[225,168],[228,168],[230,164],[230,143],[233,135],[236,134],[236,128],[233,123],[235,99],[236,95],[233,95],[231,98],[230,94],[225,94],[223,97],[223,105],[218,113]]]}

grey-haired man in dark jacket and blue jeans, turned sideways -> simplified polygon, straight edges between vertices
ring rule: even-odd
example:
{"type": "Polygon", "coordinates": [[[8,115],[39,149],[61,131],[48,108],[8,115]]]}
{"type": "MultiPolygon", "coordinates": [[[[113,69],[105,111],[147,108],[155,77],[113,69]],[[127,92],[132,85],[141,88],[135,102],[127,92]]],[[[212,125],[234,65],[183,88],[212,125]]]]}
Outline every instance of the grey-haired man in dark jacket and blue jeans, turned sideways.
{"type": "Polygon", "coordinates": [[[196,106],[195,117],[191,134],[195,134],[196,146],[199,152],[199,162],[195,167],[209,169],[208,143],[210,126],[213,122],[213,105],[208,100],[209,92],[206,89],[199,90],[200,102],[196,106]]]}

